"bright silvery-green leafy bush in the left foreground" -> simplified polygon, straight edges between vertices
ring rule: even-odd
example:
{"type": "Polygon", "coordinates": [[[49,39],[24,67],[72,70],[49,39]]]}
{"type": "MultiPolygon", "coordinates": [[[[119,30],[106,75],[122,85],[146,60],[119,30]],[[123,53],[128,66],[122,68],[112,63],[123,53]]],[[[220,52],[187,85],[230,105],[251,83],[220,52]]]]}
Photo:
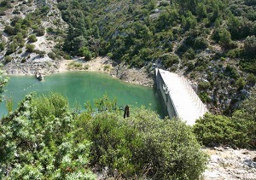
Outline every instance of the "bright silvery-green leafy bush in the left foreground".
{"type": "Polygon", "coordinates": [[[95,179],[87,167],[90,142],[76,137],[75,122],[65,97],[26,96],[1,120],[0,178],[95,179]]]}

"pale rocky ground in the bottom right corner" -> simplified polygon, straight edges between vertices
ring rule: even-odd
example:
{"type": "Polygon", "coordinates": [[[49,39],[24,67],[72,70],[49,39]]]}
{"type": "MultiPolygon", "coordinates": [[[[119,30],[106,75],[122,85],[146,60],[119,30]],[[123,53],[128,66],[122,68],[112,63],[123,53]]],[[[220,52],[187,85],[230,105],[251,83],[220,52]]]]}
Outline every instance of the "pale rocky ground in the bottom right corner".
{"type": "Polygon", "coordinates": [[[205,148],[210,160],[202,179],[256,180],[256,151],[247,149],[205,148]]]}

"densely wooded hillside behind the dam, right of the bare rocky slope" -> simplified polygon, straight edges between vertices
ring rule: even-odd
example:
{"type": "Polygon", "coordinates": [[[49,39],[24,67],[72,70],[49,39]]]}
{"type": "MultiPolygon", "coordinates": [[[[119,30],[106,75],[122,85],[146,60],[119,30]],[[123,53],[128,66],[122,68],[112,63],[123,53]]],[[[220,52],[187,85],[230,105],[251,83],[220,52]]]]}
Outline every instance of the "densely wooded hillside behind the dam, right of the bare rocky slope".
{"type": "Polygon", "coordinates": [[[72,0],[59,1],[58,8],[68,25],[63,50],[149,70],[156,63],[207,81],[198,94],[215,113],[230,115],[247,95],[241,90],[256,82],[251,1],[72,0]]]}

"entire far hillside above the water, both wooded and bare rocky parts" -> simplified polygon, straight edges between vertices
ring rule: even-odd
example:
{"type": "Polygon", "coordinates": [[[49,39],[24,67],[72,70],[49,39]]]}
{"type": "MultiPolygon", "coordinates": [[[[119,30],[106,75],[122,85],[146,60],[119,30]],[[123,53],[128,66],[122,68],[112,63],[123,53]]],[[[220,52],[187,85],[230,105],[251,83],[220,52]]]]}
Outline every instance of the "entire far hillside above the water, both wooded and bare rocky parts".
{"type": "Polygon", "coordinates": [[[103,55],[149,74],[153,67],[183,74],[211,112],[227,115],[256,82],[251,0],[1,2],[8,73],[54,72],[59,60],[103,55]]]}

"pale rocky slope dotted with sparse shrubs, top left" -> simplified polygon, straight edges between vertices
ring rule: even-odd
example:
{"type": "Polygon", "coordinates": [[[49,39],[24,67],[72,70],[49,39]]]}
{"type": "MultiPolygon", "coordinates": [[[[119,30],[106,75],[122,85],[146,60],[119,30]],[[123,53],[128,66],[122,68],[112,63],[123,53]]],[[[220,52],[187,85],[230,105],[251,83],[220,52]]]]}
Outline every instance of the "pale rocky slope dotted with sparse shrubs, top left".
{"type": "MultiPolygon", "coordinates": [[[[9,1],[2,1],[9,2],[9,1]]],[[[61,19],[56,1],[11,1],[0,20],[0,61],[10,74],[53,72],[55,45],[61,40],[66,23],[61,19]]],[[[59,57],[61,59],[61,57],[59,57]]]]}

